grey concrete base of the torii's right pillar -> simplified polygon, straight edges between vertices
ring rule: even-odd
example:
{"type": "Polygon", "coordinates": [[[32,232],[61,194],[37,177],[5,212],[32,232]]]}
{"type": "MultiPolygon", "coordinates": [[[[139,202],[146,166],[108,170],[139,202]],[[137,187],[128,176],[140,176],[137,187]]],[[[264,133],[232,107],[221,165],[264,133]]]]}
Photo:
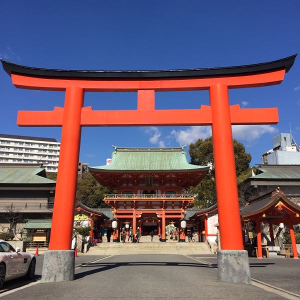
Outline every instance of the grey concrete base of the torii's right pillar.
{"type": "Polygon", "coordinates": [[[218,279],[225,282],[251,284],[246,250],[217,250],[218,279]]]}

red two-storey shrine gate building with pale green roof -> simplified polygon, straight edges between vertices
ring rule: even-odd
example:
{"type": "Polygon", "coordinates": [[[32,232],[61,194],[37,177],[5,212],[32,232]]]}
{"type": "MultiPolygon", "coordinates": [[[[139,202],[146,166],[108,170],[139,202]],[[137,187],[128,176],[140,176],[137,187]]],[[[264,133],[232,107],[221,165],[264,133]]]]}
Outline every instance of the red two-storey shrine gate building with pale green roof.
{"type": "MultiPolygon", "coordinates": [[[[115,194],[106,194],[103,199],[111,207],[113,219],[118,222],[113,241],[117,241],[119,229],[126,223],[132,226],[134,234],[138,227],[142,235],[153,231],[161,235],[161,241],[165,241],[165,227],[171,223],[180,228],[186,208],[194,201],[194,194],[184,190],[197,185],[209,167],[188,163],[184,146],[113,147],[109,164],[89,167],[101,185],[116,190],[115,194]]],[[[101,209],[82,204],[76,209],[97,216],[97,220],[103,223],[109,222],[101,209]]],[[[190,225],[193,226],[193,222],[190,225]]],[[[201,229],[201,224],[200,227],[198,224],[197,231],[205,232],[204,228],[201,229]]],[[[179,230],[179,241],[185,241],[185,231],[179,230]]]]}

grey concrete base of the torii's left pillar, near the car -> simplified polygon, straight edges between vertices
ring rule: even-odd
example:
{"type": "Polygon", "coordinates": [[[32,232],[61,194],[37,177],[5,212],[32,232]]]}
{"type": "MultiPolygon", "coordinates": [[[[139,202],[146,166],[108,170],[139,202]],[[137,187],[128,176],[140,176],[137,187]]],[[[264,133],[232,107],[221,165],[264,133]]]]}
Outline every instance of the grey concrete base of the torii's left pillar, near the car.
{"type": "Polygon", "coordinates": [[[45,251],[41,282],[74,280],[74,265],[74,250],[45,251]]]}

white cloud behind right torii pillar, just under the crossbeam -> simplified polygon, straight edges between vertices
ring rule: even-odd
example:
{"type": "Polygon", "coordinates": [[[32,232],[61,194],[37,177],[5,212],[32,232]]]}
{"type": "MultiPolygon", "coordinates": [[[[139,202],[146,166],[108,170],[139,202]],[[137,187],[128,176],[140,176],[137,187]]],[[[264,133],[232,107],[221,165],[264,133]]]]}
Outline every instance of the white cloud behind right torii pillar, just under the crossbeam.
{"type": "MultiPolygon", "coordinates": [[[[277,129],[271,125],[232,125],[233,138],[253,141],[265,133],[276,133],[277,129]]],[[[198,138],[205,139],[211,136],[210,126],[191,126],[185,130],[171,131],[171,135],[180,145],[190,144],[198,138]]]]}

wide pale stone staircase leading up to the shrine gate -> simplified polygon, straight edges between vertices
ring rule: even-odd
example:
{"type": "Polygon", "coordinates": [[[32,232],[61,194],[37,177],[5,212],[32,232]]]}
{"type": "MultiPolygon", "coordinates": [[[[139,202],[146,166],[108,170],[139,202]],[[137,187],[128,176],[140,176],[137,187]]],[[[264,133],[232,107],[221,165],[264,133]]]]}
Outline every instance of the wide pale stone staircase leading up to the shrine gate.
{"type": "Polygon", "coordinates": [[[139,243],[102,242],[90,247],[86,254],[91,255],[122,255],[122,254],[210,254],[205,242],[177,242],[167,240],[152,242],[142,236],[139,243]]]}

